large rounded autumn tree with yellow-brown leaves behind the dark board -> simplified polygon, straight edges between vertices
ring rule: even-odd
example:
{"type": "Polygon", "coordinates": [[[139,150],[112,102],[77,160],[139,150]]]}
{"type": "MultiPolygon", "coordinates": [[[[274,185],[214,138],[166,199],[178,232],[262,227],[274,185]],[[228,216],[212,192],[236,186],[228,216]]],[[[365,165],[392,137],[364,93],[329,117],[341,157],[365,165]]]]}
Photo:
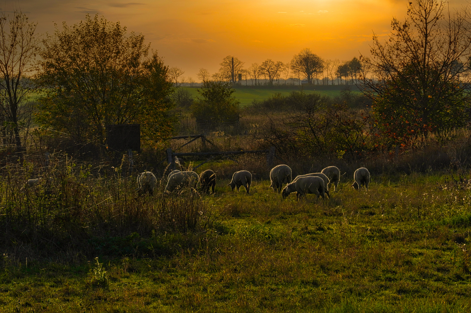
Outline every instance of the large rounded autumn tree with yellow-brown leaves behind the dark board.
{"type": "Polygon", "coordinates": [[[104,147],[109,124],[141,124],[143,137],[154,141],[170,135],[173,84],[142,34],[126,35],[119,22],[87,15],[73,26],[56,25],[43,45],[40,125],[68,134],[77,146],[104,147]]]}

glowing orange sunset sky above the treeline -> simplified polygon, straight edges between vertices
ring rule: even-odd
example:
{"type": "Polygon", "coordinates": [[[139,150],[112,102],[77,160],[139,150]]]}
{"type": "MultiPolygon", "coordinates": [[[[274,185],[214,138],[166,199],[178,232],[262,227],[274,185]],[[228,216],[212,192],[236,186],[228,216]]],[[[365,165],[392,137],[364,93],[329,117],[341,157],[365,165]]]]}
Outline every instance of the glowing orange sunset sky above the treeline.
{"type": "MultiPolygon", "coordinates": [[[[79,22],[86,13],[120,21],[141,32],[165,64],[181,67],[196,80],[200,67],[211,73],[227,55],[249,66],[267,58],[288,62],[302,48],[324,59],[369,54],[372,33],[385,36],[392,16],[406,16],[408,0],[6,0],[19,7],[38,31],[54,23],[79,22]]],[[[450,10],[466,0],[452,0],[450,10]]]]}

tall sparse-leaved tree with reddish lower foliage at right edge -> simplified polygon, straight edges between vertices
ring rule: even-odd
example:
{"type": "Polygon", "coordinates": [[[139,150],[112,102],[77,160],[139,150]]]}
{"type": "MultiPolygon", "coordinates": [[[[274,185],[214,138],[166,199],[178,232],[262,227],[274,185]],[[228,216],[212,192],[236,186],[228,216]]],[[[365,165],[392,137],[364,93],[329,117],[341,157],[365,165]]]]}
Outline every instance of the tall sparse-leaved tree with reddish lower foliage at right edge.
{"type": "Polygon", "coordinates": [[[363,58],[376,76],[363,77],[366,95],[392,144],[468,119],[468,84],[460,76],[471,56],[468,7],[447,7],[445,0],[409,2],[405,21],[393,18],[384,42],[374,34],[373,58],[363,58]]]}

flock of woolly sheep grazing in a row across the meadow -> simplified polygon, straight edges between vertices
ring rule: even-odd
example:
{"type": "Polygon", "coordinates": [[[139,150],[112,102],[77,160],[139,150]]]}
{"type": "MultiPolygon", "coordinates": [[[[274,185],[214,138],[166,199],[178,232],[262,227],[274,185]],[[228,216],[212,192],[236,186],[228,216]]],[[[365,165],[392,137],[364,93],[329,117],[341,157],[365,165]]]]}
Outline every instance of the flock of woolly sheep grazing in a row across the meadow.
{"type": "MultiPolygon", "coordinates": [[[[173,170],[167,177],[167,185],[165,186],[166,192],[173,192],[183,186],[191,186],[196,189],[198,182],[201,185],[201,191],[204,193],[214,193],[214,187],[216,186],[216,174],[211,170],[205,170],[200,175],[194,171],[179,171],[173,170]]],[[[283,199],[286,198],[290,193],[296,192],[296,199],[299,200],[302,196],[307,193],[316,194],[317,199],[319,196],[324,199],[325,194],[330,197],[329,189],[332,183],[337,190],[337,185],[340,181],[340,170],[335,166],[329,166],[323,169],[320,173],[310,173],[306,175],[299,175],[292,179],[292,171],[287,165],[277,165],[270,171],[270,188],[273,188],[275,192],[282,193],[283,199]],[[283,188],[283,185],[286,186],[283,188]],[[283,188],[283,190],[282,190],[283,188]]],[[[368,191],[368,185],[370,183],[370,173],[368,169],[360,168],[355,171],[355,181],[353,188],[358,190],[365,186],[368,191]]],[[[143,172],[138,175],[138,193],[140,195],[149,193],[152,196],[157,179],[151,172],[143,172]]],[[[241,186],[244,186],[247,193],[250,192],[250,185],[252,184],[252,174],[249,171],[238,171],[232,175],[232,180],[228,186],[231,186],[232,191],[237,188],[239,191],[241,186]]]]}

